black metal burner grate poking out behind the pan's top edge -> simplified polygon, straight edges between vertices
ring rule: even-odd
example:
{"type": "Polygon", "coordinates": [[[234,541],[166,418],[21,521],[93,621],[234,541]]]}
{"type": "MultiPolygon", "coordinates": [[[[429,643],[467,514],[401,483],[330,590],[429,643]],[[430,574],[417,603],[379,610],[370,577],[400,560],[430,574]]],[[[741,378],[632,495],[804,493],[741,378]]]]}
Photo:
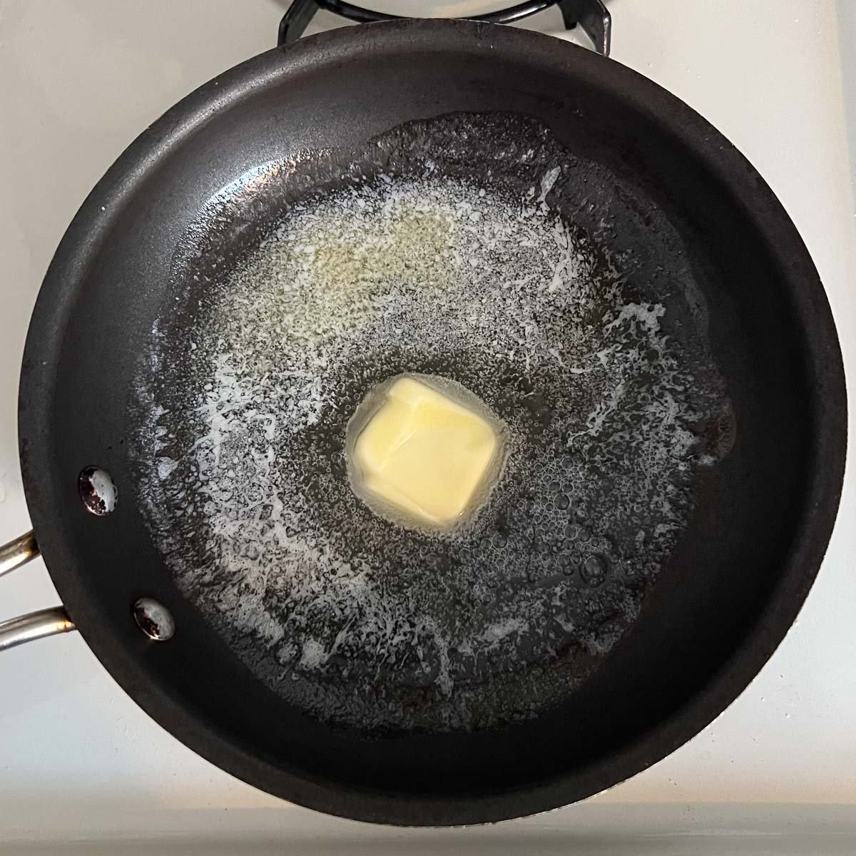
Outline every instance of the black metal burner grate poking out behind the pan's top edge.
{"type": "MultiPolygon", "coordinates": [[[[529,15],[543,12],[551,6],[558,6],[562,11],[562,20],[568,30],[573,30],[577,24],[586,31],[591,39],[595,50],[603,56],[609,56],[609,31],[611,19],[609,12],[603,5],[603,0],[527,0],[526,3],[516,3],[508,9],[500,9],[496,12],[487,12],[484,15],[473,15],[472,21],[488,21],[493,24],[513,24],[522,21],[529,15]]],[[[300,39],[306,31],[309,22],[321,9],[326,9],[335,15],[341,15],[350,21],[357,23],[371,23],[372,21],[392,21],[401,19],[407,15],[388,15],[384,12],[375,12],[356,6],[354,3],[346,3],[344,0],[294,0],[288,8],[279,24],[279,44],[285,45],[300,39]]]]}

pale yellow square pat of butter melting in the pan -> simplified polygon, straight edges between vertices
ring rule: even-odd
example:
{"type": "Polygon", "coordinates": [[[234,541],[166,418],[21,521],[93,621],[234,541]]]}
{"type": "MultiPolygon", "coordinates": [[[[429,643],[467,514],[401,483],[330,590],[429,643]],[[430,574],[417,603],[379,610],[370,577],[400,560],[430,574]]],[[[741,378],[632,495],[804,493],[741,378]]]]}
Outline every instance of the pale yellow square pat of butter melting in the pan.
{"type": "Polygon", "coordinates": [[[400,375],[372,390],[348,423],[351,485],[396,523],[455,526],[496,483],[505,433],[460,383],[400,375]]]}

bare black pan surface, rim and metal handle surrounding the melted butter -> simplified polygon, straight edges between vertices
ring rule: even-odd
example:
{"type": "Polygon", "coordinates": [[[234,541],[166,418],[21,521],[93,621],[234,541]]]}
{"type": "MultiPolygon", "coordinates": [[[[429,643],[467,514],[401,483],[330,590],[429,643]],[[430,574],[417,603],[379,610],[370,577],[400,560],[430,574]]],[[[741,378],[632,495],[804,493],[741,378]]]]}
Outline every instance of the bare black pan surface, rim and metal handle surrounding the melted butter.
{"type": "MultiPolygon", "coordinates": [[[[443,160],[438,148],[438,169],[453,169],[452,155],[443,160]]],[[[336,189],[330,175],[324,193],[336,189]]],[[[641,294],[649,285],[637,279],[641,294]]],[[[406,359],[401,367],[426,368],[406,359]]],[[[446,367],[454,373],[454,361],[446,367]]],[[[514,416],[513,403],[506,412],[514,416]]],[[[835,327],[800,236],[746,159],[685,104],[617,62],[517,29],[396,21],[324,33],[256,56],[169,110],[111,167],[63,237],[21,370],[21,470],[34,534],[3,548],[2,567],[40,551],[64,608],[5,622],[0,639],[17,644],[76,627],[179,740],[300,805],[404,825],[543,811],[681,746],[770,657],[832,530],[845,413],[835,327]],[[467,134],[455,130],[461,117],[467,134]],[[704,312],[681,316],[686,295],[665,289],[663,323],[683,318],[672,334],[687,354],[701,343],[728,400],[730,448],[693,477],[685,525],[643,586],[640,608],[585,668],[580,645],[553,651],[550,662],[561,667],[567,654],[567,668],[541,673],[557,695],[531,715],[360,728],[353,717],[301,707],[265,679],[253,639],[224,633],[179,585],[143,501],[134,456],[144,419],[140,360],[153,325],[164,324],[164,377],[181,379],[175,366],[205,324],[187,301],[175,304],[176,259],[191,275],[206,263],[182,256],[187,235],[201,229],[226,250],[238,247],[252,237],[253,217],[223,227],[212,199],[246,191],[246,176],[261,165],[307,164],[253,184],[258,205],[241,208],[241,217],[270,217],[294,182],[303,197],[318,190],[313,181],[324,183],[312,171],[318,152],[350,157],[389,133],[415,134],[429,148],[432,135],[454,141],[458,169],[477,183],[492,180],[484,163],[505,163],[497,140],[510,151],[527,135],[549,137],[586,164],[580,185],[573,170],[558,195],[542,185],[544,204],[577,217],[591,235],[600,227],[586,211],[611,212],[597,240],[608,249],[614,242],[621,258],[651,259],[652,282],[659,269],[684,271],[704,312]],[[94,467],[115,484],[115,508],[94,467]]],[[[387,532],[392,543],[395,530],[387,532]]],[[[377,682],[395,683],[395,674],[377,682]]],[[[342,698],[358,692],[339,678],[342,698]]],[[[526,684],[511,681],[506,692],[520,696],[526,684]]],[[[431,710],[431,693],[423,702],[431,710]]]]}

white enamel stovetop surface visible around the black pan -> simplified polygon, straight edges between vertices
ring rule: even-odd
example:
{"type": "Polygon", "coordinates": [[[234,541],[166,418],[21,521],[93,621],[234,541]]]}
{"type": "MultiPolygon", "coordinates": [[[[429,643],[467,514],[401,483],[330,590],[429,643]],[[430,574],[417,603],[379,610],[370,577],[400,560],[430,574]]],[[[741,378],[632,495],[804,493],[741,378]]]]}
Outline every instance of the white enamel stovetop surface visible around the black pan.
{"type": "MultiPolygon", "coordinates": [[[[141,129],[193,87],[274,44],[285,5],[0,0],[0,540],[28,527],[15,440],[17,379],[30,311],[57,241],[86,193],[141,129]]],[[[432,6],[437,10],[436,3],[375,3],[408,14],[432,6]]],[[[447,2],[442,8],[460,15],[490,3],[447,2]]],[[[614,0],[610,9],[614,59],[710,119],[758,167],[794,218],[835,312],[853,401],[856,220],[846,106],[853,110],[849,163],[856,164],[856,2],[614,0]]],[[[531,26],[558,32],[555,12],[531,26]]],[[[318,20],[326,26],[334,21],[329,15],[318,20]]],[[[851,414],[856,425],[853,404],[851,414]]],[[[56,602],[41,562],[0,580],[0,618],[56,602]]],[[[467,853],[482,852],[477,847],[568,853],[573,842],[558,830],[572,828],[573,841],[585,841],[588,852],[743,853],[750,851],[742,845],[708,851],[704,829],[751,828],[758,835],[740,838],[745,844],[769,841],[770,830],[807,817],[811,829],[837,830],[824,839],[832,849],[823,852],[854,852],[856,838],[848,844],[840,826],[852,822],[856,835],[854,615],[851,464],[838,526],[800,621],[710,728],[584,805],[505,824],[490,837],[439,835],[461,836],[467,853]],[[722,803],[804,805],[737,811],[722,803]],[[641,805],[611,810],[609,804],[641,805]],[[845,807],[810,810],[805,804],[845,807]],[[548,833],[552,837],[543,837],[548,833]],[[633,843],[634,835],[647,836],[648,843],[633,843]],[[679,840],[692,839],[696,849],[673,850],[669,835],[690,835],[679,840]]],[[[253,838],[260,848],[294,843],[298,836],[302,844],[294,852],[301,853],[445,847],[425,833],[408,839],[407,833],[333,821],[237,782],[149,720],[75,634],[4,653],[0,841],[137,840],[167,832],[197,835],[209,842],[209,852],[211,835],[221,844],[230,835],[253,838]]],[[[795,841],[779,841],[770,853],[790,853],[801,847],[795,841]]],[[[793,852],[820,849],[814,841],[793,852]]]]}

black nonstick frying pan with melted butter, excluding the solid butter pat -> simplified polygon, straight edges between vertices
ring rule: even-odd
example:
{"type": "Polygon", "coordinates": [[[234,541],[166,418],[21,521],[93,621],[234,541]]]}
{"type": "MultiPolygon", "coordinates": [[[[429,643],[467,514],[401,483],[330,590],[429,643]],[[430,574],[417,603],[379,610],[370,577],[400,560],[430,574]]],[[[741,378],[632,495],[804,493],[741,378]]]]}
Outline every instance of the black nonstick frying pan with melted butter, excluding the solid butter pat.
{"type": "MultiPolygon", "coordinates": [[[[193,92],[62,239],[21,468],[64,609],[164,728],[381,823],[580,800],[709,723],[817,574],[841,354],[800,236],[721,134],[536,33],[339,30],[193,92]],[[508,429],[449,532],[351,489],[391,377],[508,429]]],[[[36,544],[38,543],[38,548],[36,544]]]]}

